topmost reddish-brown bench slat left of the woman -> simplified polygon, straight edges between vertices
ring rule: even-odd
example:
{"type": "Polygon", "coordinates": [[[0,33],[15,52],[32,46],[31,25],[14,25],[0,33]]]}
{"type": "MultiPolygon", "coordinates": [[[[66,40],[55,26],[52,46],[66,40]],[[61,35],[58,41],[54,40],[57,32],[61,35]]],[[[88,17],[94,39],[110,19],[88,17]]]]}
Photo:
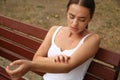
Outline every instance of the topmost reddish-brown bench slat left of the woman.
{"type": "Polygon", "coordinates": [[[0,15],[0,24],[9,26],[10,28],[21,31],[23,33],[30,34],[40,39],[44,39],[45,35],[47,34],[47,30],[45,29],[28,25],[1,15],[0,15]]]}

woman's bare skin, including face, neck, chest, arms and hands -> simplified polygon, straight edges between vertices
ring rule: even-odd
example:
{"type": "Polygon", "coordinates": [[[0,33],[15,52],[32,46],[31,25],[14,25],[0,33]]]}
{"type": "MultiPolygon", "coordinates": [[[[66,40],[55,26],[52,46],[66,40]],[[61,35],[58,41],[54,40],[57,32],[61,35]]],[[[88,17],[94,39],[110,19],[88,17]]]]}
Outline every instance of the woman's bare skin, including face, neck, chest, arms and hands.
{"type": "Polygon", "coordinates": [[[95,55],[100,44],[99,35],[86,29],[86,26],[90,21],[91,18],[88,8],[77,4],[70,5],[67,12],[68,25],[62,27],[57,33],[55,44],[61,51],[73,49],[85,35],[91,34],[87,37],[82,46],[71,56],[57,55],[55,57],[47,57],[52,35],[58,28],[58,26],[53,26],[34,55],[33,60],[16,60],[6,67],[7,73],[11,76],[12,80],[18,80],[29,70],[43,73],[67,73],[81,65],[95,55]],[[15,70],[11,70],[10,67],[13,67],[14,65],[19,65],[19,67],[15,70]]]}

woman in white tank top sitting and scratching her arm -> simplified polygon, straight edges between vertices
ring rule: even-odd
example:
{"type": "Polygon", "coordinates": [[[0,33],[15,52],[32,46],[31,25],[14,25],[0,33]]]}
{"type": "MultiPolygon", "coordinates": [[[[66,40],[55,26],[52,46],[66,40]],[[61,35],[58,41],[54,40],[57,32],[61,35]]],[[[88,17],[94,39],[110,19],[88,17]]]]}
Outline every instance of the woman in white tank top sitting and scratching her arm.
{"type": "Polygon", "coordinates": [[[97,52],[100,37],[89,31],[95,11],[94,0],[69,0],[67,26],[53,26],[32,61],[17,60],[6,71],[13,80],[29,70],[44,74],[44,80],[83,80],[97,52]],[[10,67],[19,65],[15,70],[10,67]]]}

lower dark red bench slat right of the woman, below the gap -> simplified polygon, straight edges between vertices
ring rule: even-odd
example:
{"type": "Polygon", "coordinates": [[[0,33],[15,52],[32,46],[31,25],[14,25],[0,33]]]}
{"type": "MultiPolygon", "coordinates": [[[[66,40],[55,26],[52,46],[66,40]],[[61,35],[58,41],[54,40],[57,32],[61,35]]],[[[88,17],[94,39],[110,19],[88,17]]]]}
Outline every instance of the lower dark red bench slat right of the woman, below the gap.
{"type": "Polygon", "coordinates": [[[91,63],[88,69],[88,73],[98,76],[99,78],[104,80],[113,80],[114,76],[116,75],[116,72],[114,69],[96,62],[91,63]],[[108,77],[108,75],[110,76],[108,77]]]}

